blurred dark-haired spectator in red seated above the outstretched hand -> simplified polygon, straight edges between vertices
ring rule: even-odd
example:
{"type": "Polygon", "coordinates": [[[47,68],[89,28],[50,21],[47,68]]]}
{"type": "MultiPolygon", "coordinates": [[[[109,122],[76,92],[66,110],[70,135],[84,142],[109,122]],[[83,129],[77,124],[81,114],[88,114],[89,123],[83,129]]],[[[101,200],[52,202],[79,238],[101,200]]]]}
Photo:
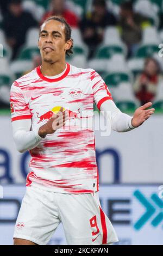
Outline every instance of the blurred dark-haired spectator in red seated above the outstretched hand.
{"type": "Polygon", "coordinates": [[[134,93],[141,104],[153,101],[160,82],[163,82],[160,75],[160,65],[154,58],[145,61],[142,74],[138,75],[134,83],[134,93]]]}

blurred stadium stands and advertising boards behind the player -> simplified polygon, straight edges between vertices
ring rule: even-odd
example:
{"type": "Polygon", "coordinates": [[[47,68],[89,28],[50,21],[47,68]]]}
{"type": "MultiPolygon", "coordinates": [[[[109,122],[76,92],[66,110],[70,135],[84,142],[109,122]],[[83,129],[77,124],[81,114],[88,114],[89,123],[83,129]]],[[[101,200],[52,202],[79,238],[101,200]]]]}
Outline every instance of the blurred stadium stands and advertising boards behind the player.
{"type": "MultiPolygon", "coordinates": [[[[155,115],[138,130],[107,138],[96,131],[96,157],[101,203],[119,244],[163,245],[163,0],[0,1],[0,245],[12,244],[30,160],[12,139],[10,87],[40,65],[39,26],[49,15],[72,27],[67,62],[95,69],[121,111],[153,102],[155,115]]],[[[65,243],[60,225],[49,244],[65,243]]]]}

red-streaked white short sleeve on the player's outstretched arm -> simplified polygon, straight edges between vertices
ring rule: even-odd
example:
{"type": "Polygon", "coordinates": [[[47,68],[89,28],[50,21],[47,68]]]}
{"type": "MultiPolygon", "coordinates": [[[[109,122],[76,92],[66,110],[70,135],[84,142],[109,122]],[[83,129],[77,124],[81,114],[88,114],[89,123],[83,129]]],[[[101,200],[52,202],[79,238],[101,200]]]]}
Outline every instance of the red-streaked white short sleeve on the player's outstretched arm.
{"type": "Polygon", "coordinates": [[[91,83],[94,101],[100,110],[102,103],[106,100],[112,100],[112,96],[104,80],[95,70],[91,71],[91,83]]]}

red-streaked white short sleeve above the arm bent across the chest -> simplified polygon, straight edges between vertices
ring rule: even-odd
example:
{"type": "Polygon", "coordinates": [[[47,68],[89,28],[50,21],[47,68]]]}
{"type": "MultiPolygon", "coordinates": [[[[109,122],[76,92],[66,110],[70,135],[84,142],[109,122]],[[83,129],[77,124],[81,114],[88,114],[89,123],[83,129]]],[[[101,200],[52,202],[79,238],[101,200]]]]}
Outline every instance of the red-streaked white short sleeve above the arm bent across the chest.
{"type": "Polygon", "coordinates": [[[31,119],[29,104],[26,103],[21,88],[15,81],[10,89],[11,121],[31,119]]]}

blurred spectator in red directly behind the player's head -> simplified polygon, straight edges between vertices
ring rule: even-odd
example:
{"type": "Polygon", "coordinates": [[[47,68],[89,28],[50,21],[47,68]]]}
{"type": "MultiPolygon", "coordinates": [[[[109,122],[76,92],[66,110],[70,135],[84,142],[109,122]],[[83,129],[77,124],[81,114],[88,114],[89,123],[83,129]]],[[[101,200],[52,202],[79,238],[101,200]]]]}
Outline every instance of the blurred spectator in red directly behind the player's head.
{"type": "Polygon", "coordinates": [[[42,23],[50,16],[61,16],[64,17],[71,27],[78,27],[78,17],[67,9],[65,0],[52,0],[51,6],[52,10],[43,16],[42,23]]]}

